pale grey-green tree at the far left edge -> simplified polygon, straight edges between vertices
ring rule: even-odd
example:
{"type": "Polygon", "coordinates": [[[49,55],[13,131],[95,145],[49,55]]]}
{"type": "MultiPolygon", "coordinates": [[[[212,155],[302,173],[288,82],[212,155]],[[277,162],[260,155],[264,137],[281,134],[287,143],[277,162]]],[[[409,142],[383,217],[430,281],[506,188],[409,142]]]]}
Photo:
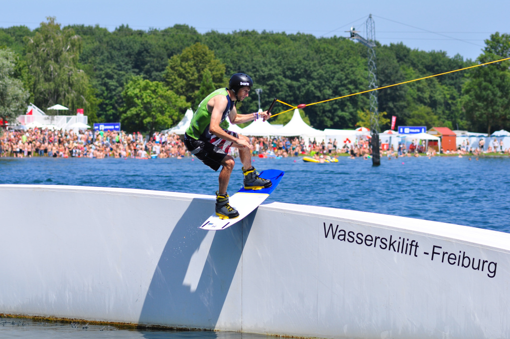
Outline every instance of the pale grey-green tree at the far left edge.
{"type": "Polygon", "coordinates": [[[0,119],[11,124],[15,124],[18,115],[23,114],[29,98],[21,80],[12,77],[15,62],[12,50],[0,49],[0,119]]]}

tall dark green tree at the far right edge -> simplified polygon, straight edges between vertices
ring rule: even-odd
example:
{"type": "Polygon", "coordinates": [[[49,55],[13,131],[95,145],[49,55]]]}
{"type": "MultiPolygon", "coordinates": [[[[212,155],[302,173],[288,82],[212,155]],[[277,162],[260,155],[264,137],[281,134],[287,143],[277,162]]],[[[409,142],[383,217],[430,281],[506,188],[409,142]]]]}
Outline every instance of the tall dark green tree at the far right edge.
{"type": "MultiPolygon", "coordinates": [[[[477,60],[480,63],[510,57],[510,35],[495,33],[477,60]]],[[[463,106],[467,119],[488,135],[493,127],[508,127],[510,122],[510,62],[503,61],[473,68],[464,85],[463,106]]]]}

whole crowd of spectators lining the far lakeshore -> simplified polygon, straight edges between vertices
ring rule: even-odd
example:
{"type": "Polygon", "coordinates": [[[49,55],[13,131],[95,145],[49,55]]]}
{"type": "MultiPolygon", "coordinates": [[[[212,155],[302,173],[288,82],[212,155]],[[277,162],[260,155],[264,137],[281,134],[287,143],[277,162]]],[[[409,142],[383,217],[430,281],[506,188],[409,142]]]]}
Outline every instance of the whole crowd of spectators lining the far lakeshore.
{"type": "MultiPolygon", "coordinates": [[[[0,131],[2,132],[2,131],[0,131]]],[[[305,143],[299,137],[250,137],[253,156],[265,157],[293,157],[299,155],[349,155],[351,158],[369,158],[372,148],[368,139],[343,140],[339,147],[337,139],[328,139],[305,143]]],[[[463,142],[456,151],[444,151],[446,154],[480,155],[482,153],[499,152],[509,154],[510,150],[503,150],[503,142],[494,139],[486,151],[484,140],[477,145],[463,142]]],[[[235,148],[231,153],[237,156],[235,148]]],[[[435,156],[437,151],[432,147],[425,150],[425,145],[412,142],[406,146],[401,143],[397,150],[393,146],[389,150],[380,149],[382,156],[435,156]]],[[[124,131],[51,131],[48,129],[29,129],[28,131],[3,131],[0,134],[0,157],[88,157],[102,159],[115,158],[182,158],[190,156],[179,135],[173,133],[155,132],[150,137],[140,132],[126,133],[124,131]]]]}

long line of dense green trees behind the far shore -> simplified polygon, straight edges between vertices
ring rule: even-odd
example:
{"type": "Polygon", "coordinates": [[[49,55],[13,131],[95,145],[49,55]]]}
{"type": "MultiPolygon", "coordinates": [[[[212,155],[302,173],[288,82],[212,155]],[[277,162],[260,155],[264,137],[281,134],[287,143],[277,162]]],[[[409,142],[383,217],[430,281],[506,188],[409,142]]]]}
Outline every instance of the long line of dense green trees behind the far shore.
{"type": "MultiPolygon", "coordinates": [[[[510,35],[492,34],[475,60],[445,52],[377,43],[378,86],[476,63],[510,57],[510,35]]],[[[175,125],[230,75],[245,72],[261,88],[261,106],[273,98],[298,105],[368,88],[367,50],[344,37],[236,31],[198,33],[187,25],[163,30],[113,32],[99,26],[61,27],[55,18],[30,30],[0,29],[0,118],[19,114],[19,104],[45,109],[84,108],[89,122],[122,122],[123,129],[151,132],[175,125]],[[10,98],[10,99],[7,99],[10,98]],[[16,113],[14,113],[16,112],[16,113]]],[[[397,125],[446,126],[477,132],[510,128],[510,62],[378,91],[382,129],[397,125]]],[[[253,88],[253,89],[254,89],[253,88]]],[[[22,106],[22,105],[21,105],[22,106]]],[[[367,119],[368,94],[310,106],[305,117],[318,129],[352,129],[367,119]]],[[[257,111],[254,90],[241,113],[257,111]]],[[[283,106],[276,107],[286,109],[283,106]]],[[[286,123],[291,114],[270,122],[286,123]]]]}

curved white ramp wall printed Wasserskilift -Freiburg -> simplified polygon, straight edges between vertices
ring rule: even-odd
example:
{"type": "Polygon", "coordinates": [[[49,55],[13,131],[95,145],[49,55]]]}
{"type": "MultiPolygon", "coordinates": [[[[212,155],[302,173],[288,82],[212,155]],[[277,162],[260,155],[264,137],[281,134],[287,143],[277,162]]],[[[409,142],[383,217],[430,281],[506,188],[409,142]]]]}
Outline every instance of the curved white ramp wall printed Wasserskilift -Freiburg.
{"type": "Polygon", "coordinates": [[[203,231],[214,197],[120,188],[0,185],[0,205],[0,313],[299,337],[510,338],[510,234],[283,203],[203,231]]]}

